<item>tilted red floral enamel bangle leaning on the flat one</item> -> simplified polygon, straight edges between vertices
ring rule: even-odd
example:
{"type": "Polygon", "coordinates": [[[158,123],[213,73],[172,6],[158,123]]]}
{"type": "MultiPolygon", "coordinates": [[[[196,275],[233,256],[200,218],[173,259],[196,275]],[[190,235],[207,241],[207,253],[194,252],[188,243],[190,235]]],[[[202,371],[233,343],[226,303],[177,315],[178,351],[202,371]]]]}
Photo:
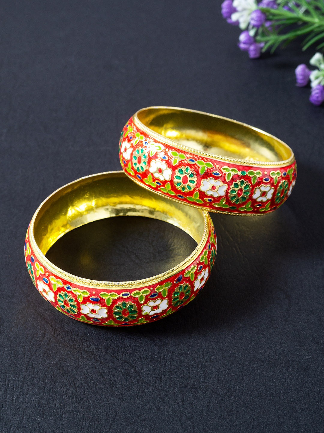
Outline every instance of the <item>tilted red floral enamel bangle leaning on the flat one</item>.
{"type": "Polygon", "coordinates": [[[119,143],[133,181],[208,211],[258,215],[280,207],[296,179],[292,150],[244,123],[183,108],[139,110],[119,143]]]}

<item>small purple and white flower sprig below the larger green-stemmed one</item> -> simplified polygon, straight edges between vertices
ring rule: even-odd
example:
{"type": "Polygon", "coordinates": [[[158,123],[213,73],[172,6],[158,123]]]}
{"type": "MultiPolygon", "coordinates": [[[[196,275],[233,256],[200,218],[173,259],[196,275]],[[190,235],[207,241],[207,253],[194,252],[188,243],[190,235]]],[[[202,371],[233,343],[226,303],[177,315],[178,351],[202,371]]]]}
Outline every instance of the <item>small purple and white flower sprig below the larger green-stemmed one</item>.
{"type": "Polygon", "coordinates": [[[318,69],[310,71],[307,66],[302,63],[295,69],[296,84],[299,87],[304,87],[311,81],[311,96],[309,100],[314,105],[321,105],[324,102],[324,56],[321,53],[316,53],[309,63],[312,66],[317,66],[318,69]]]}

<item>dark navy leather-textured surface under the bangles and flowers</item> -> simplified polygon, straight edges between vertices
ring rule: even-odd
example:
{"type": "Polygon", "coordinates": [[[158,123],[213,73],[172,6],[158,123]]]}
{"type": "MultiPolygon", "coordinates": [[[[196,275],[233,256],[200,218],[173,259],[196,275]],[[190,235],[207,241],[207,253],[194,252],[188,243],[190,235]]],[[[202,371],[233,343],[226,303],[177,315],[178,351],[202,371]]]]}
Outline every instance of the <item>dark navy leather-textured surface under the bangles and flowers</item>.
{"type": "MultiPolygon", "coordinates": [[[[324,432],[324,109],[293,72],[314,51],[248,60],[213,0],[10,0],[0,17],[1,433],[324,432]],[[216,266],[190,305],[132,329],[88,326],[33,287],[25,231],[57,187],[120,168],[121,129],[149,105],[279,136],[297,184],[270,215],[213,215],[216,266]]],[[[192,248],[163,223],[109,224],[79,231],[110,239],[102,272],[159,271],[192,248]]]]}

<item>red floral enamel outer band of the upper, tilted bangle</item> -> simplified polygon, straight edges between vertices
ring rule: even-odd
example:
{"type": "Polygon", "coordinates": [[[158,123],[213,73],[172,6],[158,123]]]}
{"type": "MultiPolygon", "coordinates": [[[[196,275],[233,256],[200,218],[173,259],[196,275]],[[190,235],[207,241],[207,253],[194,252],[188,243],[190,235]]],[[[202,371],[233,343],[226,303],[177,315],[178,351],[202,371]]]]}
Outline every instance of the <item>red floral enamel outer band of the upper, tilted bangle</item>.
{"type": "Polygon", "coordinates": [[[292,192],[297,176],[294,160],[278,167],[205,156],[194,149],[180,149],[168,139],[157,139],[134,119],[124,127],[121,165],[133,181],[157,194],[212,212],[262,215],[276,210],[292,192]],[[130,129],[132,133],[126,134],[130,129]],[[137,149],[147,154],[141,172],[129,169],[129,154],[137,149]]]}

